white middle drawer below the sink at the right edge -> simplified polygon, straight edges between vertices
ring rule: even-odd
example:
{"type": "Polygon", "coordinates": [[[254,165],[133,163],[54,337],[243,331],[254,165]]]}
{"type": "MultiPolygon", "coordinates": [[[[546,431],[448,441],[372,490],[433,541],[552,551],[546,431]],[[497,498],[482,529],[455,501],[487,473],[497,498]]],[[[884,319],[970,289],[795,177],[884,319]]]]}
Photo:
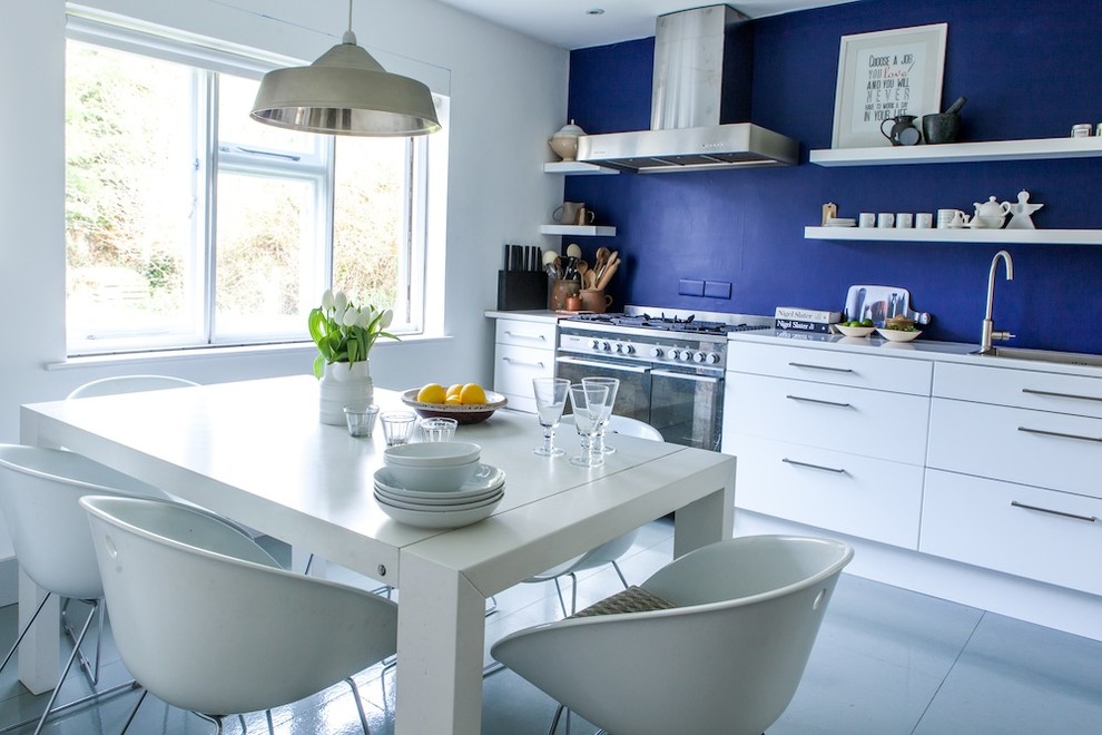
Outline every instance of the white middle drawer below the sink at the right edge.
{"type": "Polygon", "coordinates": [[[1102,419],[935,398],[926,464],[1102,497],[1102,419]]]}

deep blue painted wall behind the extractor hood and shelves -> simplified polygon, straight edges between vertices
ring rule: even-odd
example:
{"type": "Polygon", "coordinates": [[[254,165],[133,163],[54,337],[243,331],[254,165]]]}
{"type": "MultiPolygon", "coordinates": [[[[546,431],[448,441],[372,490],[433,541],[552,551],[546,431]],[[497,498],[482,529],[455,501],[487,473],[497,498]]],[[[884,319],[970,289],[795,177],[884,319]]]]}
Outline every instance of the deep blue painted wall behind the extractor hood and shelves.
{"type": "MultiPolygon", "coordinates": [[[[737,2],[734,3],[737,7],[737,2]]],[[[571,176],[624,262],[609,285],[617,304],[771,315],[778,305],[840,310],[852,284],[902,286],[931,312],[924,336],[978,342],[991,244],[804,239],[821,205],[858,212],[972,212],[988,196],[1027,189],[1039,228],[1102,229],[1102,158],[824,168],[839,39],[948,23],[943,109],[957,97],[962,141],[1067,136],[1102,121],[1102,2],[1096,0],[867,0],[754,21],[752,121],[800,141],[800,165],[747,170],[571,176]],[[678,295],[680,278],[732,284],[730,298],[678,295]]],[[[569,117],[587,133],[650,125],[653,39],[571,53],[569,117]]],[[[565,243],[564,243],[565,244],[565,243]]],[[[1102,246],[1011,245],[1000,271],[995,325],[1016,346],[1102,353],[1102,246]]]]}

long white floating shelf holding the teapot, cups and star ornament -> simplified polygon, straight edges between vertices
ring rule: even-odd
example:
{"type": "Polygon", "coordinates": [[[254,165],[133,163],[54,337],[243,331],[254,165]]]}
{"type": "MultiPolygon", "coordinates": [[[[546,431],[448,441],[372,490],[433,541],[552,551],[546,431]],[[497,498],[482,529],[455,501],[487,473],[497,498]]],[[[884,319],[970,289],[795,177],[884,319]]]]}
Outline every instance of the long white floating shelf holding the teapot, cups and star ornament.
{"type": "Polygon", "coordinates": [[[1014,243],[1102,245],[1102,229],[896,229],[880,227],[805,227],[805,239],[885,243],[1014,243]]]}

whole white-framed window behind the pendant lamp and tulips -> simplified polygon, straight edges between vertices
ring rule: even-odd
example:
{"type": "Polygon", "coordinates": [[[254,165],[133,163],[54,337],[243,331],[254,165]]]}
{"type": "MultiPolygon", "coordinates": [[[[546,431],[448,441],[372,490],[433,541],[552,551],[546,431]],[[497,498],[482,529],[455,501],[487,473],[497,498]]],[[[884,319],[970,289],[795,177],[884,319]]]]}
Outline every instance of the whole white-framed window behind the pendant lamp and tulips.
{"type": "Polygon", "coordinates": [[[426,138],[262,125],[260,62],[82,19],[69,35],[70,355],[306,340],[331,286],[422,329],[426,138]]]}

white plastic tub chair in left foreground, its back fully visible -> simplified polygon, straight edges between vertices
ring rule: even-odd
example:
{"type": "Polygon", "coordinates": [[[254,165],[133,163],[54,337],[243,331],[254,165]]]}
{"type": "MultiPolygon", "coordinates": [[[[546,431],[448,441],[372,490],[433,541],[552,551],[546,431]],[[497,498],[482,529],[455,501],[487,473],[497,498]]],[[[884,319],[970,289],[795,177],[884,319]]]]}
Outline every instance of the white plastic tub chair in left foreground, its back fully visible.
{"type": "Polygon", "coordinates": [[[395,653],[397,605],[281,569],[201,509],[134,498],[80,503],[119,655],[147,692],[222,732],[223,715],[286,705],[343,679],[367,732],[352,675],[395,653]]]}

